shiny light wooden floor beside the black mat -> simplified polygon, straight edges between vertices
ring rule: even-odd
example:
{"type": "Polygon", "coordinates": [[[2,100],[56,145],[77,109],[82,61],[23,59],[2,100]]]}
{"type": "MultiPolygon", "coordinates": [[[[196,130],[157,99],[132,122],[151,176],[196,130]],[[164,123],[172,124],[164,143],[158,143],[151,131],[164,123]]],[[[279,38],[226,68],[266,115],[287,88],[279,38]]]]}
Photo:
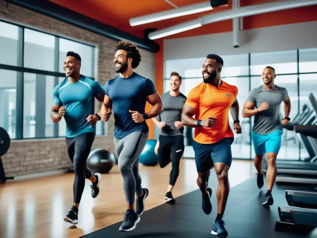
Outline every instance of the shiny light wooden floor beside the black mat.
{"type": "MultiPolygon", "coordinates": [[[[164,203],[171,165],[140,165],[142,186],[149,188],[146,210],[164,203]]],[[[233,187],[255,175],[252,161],[234,161],[230,168],[233,187]]],[[[198,189],[193,159],[183,159],[173,196],[198,189]]],[[[86,182],[77,226],[63,221],[73,203],[74,174],[63,174],[0,185],[0,237],[2,238],[77,238],[123,220],[126,200],[122,177],[115,166],[102,176],[100,194],[93,199],[90,182],[86,182]]],[[[199,198],[197,198],[199,199],[199,198]]]]}

